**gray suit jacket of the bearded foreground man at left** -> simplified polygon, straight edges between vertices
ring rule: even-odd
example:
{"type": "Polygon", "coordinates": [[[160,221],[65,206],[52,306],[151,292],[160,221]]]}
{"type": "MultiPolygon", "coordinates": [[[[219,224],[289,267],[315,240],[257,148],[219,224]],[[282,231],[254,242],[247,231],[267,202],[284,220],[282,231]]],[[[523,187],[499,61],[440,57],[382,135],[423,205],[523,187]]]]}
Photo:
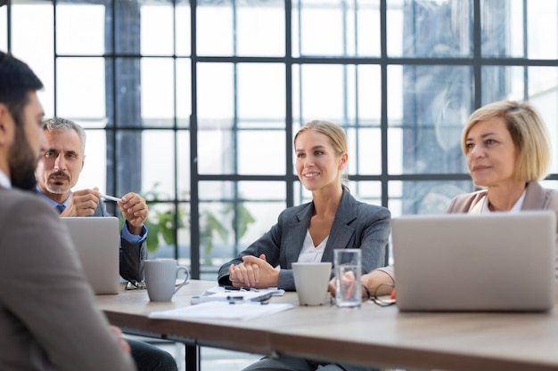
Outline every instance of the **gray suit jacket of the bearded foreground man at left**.
{"type": "Polygon", "coordinates": [[[0,369],[135,369],[45,200],[0,187],[0,256],[0,369]]]}

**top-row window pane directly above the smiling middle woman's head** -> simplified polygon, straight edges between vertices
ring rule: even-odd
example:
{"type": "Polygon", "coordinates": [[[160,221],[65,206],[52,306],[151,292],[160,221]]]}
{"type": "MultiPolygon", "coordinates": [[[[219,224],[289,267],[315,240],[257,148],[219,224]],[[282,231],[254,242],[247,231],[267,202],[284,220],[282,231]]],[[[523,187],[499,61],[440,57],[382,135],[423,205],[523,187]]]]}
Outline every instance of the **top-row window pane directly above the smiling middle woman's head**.
{"type": "Polygon", "coordinates": [[[379,56],[380,1],[292,2],[294,56],[379,56]]]}

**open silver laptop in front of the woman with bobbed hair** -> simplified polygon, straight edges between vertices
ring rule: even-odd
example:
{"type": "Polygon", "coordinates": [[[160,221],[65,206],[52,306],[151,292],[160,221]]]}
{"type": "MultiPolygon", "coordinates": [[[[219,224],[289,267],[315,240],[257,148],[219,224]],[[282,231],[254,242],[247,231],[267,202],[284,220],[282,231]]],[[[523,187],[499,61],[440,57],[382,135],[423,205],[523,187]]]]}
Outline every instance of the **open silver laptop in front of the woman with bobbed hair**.
{"type": "Polygon", "coordinates": [[[400,311],[549,311],[556,215],[413,215],[391,221],[400,311]]]}

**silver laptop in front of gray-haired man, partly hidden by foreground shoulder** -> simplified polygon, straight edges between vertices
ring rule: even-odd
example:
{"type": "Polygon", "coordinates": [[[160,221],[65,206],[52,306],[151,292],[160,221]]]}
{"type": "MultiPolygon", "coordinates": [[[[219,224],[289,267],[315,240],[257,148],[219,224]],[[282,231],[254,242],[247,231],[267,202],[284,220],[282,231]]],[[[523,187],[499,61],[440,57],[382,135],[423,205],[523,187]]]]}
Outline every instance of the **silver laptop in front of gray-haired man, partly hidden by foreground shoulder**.
{"type": "Polygon", "coordinates": [[[81,265],[95,294],[119,293],[119,219],[61,218],[70,230],[81,265]]]}

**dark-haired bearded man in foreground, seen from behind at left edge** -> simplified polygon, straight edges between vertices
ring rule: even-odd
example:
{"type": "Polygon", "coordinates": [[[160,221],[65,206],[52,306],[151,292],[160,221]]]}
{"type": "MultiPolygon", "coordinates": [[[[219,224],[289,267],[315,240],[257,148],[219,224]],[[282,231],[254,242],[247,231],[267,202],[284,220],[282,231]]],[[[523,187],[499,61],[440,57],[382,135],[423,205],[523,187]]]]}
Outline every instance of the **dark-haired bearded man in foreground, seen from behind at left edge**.
{"type": "Polygon", "coordinates": [[[0,52],[0,369],[131,371],[129,347],[97,309],[68,230],[23,191],[35,188],[46,149],[42,87],[0,52]]]}

